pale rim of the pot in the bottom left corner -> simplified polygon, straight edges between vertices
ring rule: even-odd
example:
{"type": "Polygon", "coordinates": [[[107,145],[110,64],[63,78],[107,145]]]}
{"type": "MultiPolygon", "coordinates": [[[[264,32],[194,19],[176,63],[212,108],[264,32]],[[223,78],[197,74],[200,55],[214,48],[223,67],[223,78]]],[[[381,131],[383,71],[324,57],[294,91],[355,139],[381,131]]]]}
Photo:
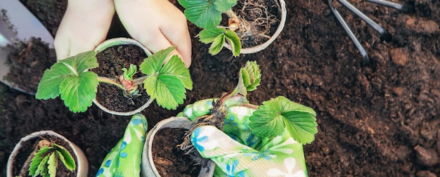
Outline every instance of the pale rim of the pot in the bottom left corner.
{"type": "MultiPolygon", "coordinates": [[[[15,163],[15,157],[17,157],[20,154],[20,151],[22,150],[22,145],[28,140],[34,140],[35,138],[39,138],[41,136],[53,136],[60,138],[61,140],[64,140],[70,148],[73,150],[72,157],[76,159],[77,161],[77,177],[87,176],[87,172],[89,171],[89,162],[87,162],[86,156],[84,155],[84,152],[82,152],[81,149],[74,143],[70,142],[70,140],[67,140],[64,136],[61,136],[58,133],[55,133],[54,131],[36,131],[34,133],[31,133],[23,138],[20,139],[20,142],[15,145],[13,151],[11,152],[11,155],[9,155],[8,158],[8,164],[6,165],[6,176],[7,177],[13,177],[18,174],[14,173],[14,163],[15,163]]],[[[15,170],[20,171],[20,170],[15,170]]]]}

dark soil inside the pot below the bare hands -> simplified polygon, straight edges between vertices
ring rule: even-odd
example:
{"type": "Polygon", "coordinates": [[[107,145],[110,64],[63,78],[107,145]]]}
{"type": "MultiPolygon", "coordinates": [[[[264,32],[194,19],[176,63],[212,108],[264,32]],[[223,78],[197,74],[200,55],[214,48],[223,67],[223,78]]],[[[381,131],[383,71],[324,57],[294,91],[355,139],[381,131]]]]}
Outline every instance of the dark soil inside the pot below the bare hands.
{"type": "MultiPolygon", "coordinates": [[[[92,69],[92,71],[100,77],[119,81],[119,76],[124,73],[122,68],[127,68],[128,70],[130,64],[141,65],[143,59],[147,58],[147,54],[138,46],[122,45],[107,48],[97,53],[96,58],[98,58],[99,67],[92,69]]],[[[142,74],[138,71],[134,79],[141,76],[142,74]]],[[[100,83],[96,93],[96,100],[104,107],[107,107],[108,110],[129,112],[141,107],[150,98],[145,89],[143,89],[143,85],[138,86],[137,94],[129,95],[124,92],[113,84],[100,83]]]]}

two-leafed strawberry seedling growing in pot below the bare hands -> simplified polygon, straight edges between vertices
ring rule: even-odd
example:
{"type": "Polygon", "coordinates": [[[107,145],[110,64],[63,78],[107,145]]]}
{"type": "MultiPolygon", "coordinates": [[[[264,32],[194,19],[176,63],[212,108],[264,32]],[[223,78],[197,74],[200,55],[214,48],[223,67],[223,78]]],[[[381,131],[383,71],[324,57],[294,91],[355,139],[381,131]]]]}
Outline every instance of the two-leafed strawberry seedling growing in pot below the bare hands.
{"type": "Polygon", "coordinates": [[[168,110],[174,110],[186,98],[186,89],[193,89],[193,82],[179,56],[173,55],[164,63],[173,50],[174,47],[169,47],[145,58],[138,66],[143,76],[136,79],[133,77],[137,72],[136,65],[130,65],[128,70],[122,69],[124,74],[115,76],[117,80],[91,72],[90,69],[98,67],[95,51],[58,60],[44,72],[35,98],[47,100],[60,96],[72,112],[85,112],[96,97],[100,82],[114,84],[126,95],[137,95],[138,85],[143,84],[150,99],[168,110]]]}

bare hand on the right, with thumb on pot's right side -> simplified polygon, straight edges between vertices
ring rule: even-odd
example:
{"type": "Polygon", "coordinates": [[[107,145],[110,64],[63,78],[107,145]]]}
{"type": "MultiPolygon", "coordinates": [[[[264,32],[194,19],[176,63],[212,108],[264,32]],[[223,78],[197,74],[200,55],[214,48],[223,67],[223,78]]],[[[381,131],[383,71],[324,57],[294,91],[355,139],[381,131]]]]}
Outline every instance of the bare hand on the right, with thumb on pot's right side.
{"type": "Polygon", "coordinates": [[[130,36],[153,53],[176,46],[186,67],[191,63],[191,44],[186,18],[167,0],[115,0],[119,19],[130,36]]]}

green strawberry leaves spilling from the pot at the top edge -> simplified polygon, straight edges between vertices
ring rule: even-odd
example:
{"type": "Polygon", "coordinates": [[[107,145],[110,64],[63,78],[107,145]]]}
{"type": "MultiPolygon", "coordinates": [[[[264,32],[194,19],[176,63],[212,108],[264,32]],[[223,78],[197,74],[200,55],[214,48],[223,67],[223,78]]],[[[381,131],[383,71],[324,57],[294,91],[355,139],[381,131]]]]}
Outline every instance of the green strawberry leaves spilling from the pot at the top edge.
{"type": "Polygon", "coordinates": [[[200,41],[209,44],[209,53],[216,55],[223,48],[225,41],[232,48],[233,56],[240,55],[240,37],[228,27],[219,27],[221,13],[233,13],[231,8],[237,0],[178,0],[185,8],[186,18],[203,30],[198,34],[200,41]]]}

